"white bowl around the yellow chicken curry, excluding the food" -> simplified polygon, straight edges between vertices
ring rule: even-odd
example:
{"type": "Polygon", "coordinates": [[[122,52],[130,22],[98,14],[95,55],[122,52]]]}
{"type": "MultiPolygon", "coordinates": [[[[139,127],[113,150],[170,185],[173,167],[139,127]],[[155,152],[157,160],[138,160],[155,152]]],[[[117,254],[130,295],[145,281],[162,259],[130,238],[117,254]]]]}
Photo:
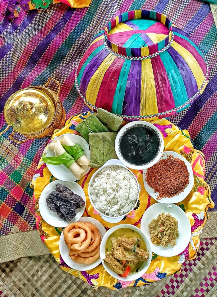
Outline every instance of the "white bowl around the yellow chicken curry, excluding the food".
{"type": "Polygon", "coordinates": [[[117,225],[117,226],[114,226],[112,227],[111,229],[109,229],[102,241],[101,241],[101,244],[100,244],[100,258],[101,258],[101,261],[102,261],[102,264],[103,264],[103,267],[105,268],[105,270],[114,278],[120,280],[120,281],[134,281],[136,280],[137,278],[141,277],[147,270],[148,270],[148,267],[150,266],[150,263],[151,263],[151,260],[152,260],[152,250],[151,250],[151,245],[148,241],[148,238],[147,236],[138,228],[138,227],[135,227],[133,225],[129,225],[129,224],[121,224],[121,225],[117,225]],[[144,242],[146,244],[146,248],[147,248],[147,251],[149,251],[149,258],[148,258],[148,261],[147,262],[144,262],[142,264],[142,266],[139,268],[139,271],[138,272],[133,272],[132,274],[128,274],[127,277],[119,277],[118,274],[116,272],[114,272],[111,268],[109,268],[106,263],[104,263],[103,259],[105,259],[105,245],[106,245],[106,242],[108,240],[108,237],[117,229],[120,229],[120,228],[129,228],[129,229],[132,229],[132,230],[135,230],[136,232],[138,232],[142,238],[144,239],[144,242]]]}

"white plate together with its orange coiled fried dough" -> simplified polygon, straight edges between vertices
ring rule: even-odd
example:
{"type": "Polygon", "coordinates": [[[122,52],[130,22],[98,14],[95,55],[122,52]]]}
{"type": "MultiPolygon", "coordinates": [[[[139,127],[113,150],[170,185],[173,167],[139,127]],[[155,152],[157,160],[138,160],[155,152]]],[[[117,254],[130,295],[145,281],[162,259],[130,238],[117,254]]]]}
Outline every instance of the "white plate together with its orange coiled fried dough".
{"type": "Polygon", "coordinates": [[[64,228],[60,235],[60,255],[64,262],[77,270],[93,269],[101,263],[100,243],[104,226],[94,218],[82,217],[64,228]]]}

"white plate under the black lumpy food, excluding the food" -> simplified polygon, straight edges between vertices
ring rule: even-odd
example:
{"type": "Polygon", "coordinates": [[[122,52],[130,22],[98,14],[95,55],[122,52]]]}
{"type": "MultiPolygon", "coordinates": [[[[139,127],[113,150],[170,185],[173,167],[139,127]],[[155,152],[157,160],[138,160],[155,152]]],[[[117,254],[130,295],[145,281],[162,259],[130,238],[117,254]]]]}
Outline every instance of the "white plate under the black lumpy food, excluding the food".
{"type": "Polygon", "coordinates": [[[49,183],[44,190],[41,193],[41,196],[39,198],[39,211],[42,215],[42,218],[47,222],[49,225],[54,227],[66,227],[70,223],[77,222],[79,218],[81,218],[82,214],[84,213],[86,206],[86,196],[81,186],[77,182],[63,182],[59,179],[49,183]],[[46,203],[47,195],[50,194],[52,191],[55,191],[56,184],[60,183],[66,187],[68,187],[70,190],[72,190],[75,194],[82,197],[82,199],[85,201],[85,205],[83,205],[81,208],[76,209],[77,215],[70,221],[64,221],[62,218],[58,217],[57,213],[52,211],[48,208],[46,203]]]}

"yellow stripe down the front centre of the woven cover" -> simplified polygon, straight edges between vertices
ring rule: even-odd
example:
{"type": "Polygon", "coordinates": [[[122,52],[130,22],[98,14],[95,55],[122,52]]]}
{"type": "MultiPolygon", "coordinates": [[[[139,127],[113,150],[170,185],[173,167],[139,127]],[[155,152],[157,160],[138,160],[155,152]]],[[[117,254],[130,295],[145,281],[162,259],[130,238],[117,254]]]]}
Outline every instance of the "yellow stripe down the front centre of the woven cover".
{"type": "Polygon", "coordinates": [[[151,59],[142,60],[141,77],[140,115],[157,114],[157,94],[151,59]]]}

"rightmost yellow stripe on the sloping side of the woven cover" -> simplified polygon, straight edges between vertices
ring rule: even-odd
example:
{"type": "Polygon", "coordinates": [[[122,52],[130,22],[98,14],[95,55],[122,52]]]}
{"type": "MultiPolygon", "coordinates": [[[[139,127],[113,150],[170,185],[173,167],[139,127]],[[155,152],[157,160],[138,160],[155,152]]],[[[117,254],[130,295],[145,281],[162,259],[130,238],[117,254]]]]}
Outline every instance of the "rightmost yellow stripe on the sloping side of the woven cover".
{"type": "Polygon", "coordinates": [[[182,47],[179,43],[175,42],[174,40],[171,44],[171,47],[173,47],[186,61],[193,73],[193,76],[196,79],[197,87],[199,89],[205,79],[205,76],[203,74],[202,69],[200,68],[200,65],[197,63],[197,60],[190,52],[188,52],[186,48],[182,47]]]}

